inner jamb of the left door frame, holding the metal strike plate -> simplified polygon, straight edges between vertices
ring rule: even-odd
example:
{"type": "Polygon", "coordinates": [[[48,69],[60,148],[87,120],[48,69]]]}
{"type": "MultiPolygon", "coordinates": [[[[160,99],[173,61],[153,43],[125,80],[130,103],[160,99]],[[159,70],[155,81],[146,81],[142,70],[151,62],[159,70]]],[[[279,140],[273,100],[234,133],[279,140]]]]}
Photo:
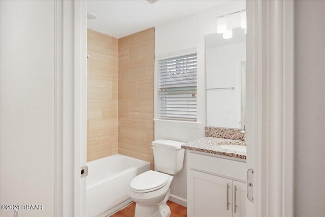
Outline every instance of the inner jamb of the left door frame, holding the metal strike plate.
{"type": "Polygon", "coordinates": [[[74,215],[86,216],[86,178],[80,168],[87,164],[87,1],[74,1],[74,215]]]}

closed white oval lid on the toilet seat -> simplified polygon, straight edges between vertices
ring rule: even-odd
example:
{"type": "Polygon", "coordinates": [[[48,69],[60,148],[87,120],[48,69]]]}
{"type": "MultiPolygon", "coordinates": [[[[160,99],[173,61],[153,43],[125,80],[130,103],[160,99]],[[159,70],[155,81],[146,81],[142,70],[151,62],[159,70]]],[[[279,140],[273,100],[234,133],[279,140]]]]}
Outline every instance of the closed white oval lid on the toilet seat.
{"type": "Polygon", "coordinates": [[[149,170],[147,172],[141,173],[132,179],[130,187],[137,192],[150,192],[163,188],[170,175],[149,170]]]}

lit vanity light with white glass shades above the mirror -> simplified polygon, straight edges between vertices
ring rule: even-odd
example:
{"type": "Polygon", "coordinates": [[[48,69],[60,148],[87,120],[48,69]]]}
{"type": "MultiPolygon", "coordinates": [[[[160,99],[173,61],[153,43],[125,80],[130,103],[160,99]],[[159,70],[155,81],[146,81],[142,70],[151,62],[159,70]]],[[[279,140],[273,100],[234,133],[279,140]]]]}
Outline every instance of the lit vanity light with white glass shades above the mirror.
{"type": "Polygon", "coordinates": [[[243,28],[246,34],[247,32],[246,10],[237,11],[231,14],[226,14],[217,17],[217,33],[222,34],[223,39],[231,39],[233,37],[233,28],[238,28],[238,27],[243,28]],[[230,21],[228,21],[227,17],[230,18],[230,21]]]}

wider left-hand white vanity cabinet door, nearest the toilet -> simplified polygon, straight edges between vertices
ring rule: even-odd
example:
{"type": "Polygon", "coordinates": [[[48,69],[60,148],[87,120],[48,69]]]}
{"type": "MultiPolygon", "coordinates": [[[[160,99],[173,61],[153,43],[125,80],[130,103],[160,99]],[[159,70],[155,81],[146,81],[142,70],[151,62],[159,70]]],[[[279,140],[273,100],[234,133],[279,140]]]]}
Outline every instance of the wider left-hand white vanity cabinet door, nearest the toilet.
{"type": "Polygon", "coordinates": [[[232,217],[233,181],[188,170],[187,215],[189,217],[232,217]]]}

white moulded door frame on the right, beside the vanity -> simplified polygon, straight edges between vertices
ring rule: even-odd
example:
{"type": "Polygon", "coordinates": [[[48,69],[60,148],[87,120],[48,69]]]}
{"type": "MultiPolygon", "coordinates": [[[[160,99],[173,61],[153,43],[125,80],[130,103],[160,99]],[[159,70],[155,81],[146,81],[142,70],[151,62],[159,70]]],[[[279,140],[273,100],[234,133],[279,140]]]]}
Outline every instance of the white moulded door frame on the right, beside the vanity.
{"type": "Polygon", "coordinates": [[[247,1],[247,216],[293,216],[294,1],[247,1]],[[251,156],[251,158],[250,158],[251,156]]]}

